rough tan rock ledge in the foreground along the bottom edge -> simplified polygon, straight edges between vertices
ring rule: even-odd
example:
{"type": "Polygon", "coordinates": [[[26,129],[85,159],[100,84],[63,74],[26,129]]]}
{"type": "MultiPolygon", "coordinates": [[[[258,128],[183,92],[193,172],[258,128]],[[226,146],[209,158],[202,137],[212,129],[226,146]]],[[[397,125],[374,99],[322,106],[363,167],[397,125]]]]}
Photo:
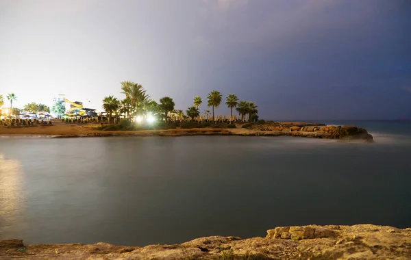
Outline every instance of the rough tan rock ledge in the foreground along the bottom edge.
{"type": "Polygon", "coordinates": [[[411,259],[411,229],[354,226],[285,226],[265,238],[201,237],[145,247],[107,243],[26,245],[0,241],[0,259],[411,259]]]}

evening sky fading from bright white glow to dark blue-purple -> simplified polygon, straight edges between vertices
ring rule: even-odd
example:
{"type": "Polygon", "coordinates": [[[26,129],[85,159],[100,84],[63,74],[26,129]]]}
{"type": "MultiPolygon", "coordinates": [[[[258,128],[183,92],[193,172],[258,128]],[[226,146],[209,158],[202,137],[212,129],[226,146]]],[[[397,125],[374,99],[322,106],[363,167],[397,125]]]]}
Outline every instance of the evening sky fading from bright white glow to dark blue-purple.
{"type": "Polygon", "coordinates": [[[0,0],[16,107],[66,94],[101,111],[126,80],[176,109],[199,95],[201,113],[219,90],[269,120],[411,118],[411,1],[0,0]]]}

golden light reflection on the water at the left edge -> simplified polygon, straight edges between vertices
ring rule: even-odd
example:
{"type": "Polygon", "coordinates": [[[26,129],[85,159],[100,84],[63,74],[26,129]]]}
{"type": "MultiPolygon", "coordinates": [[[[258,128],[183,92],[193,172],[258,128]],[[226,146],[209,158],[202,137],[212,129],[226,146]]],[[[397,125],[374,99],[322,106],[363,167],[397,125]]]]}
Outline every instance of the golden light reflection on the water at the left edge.
{"type": "Polygon", "coordinates": [[[21,222],[23,211],[22,170],[19,161],[0,154],[0,238],[21,222]]]}

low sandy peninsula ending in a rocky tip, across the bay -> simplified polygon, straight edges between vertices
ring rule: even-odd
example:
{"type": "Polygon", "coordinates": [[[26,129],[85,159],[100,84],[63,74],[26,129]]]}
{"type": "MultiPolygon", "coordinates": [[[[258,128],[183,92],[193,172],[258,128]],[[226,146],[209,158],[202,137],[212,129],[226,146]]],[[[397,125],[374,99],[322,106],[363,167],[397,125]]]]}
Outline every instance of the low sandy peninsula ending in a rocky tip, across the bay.
{"type": "MultiPolygon", "coordinates": [[[[152,127],[153,128],[153,127],[152,127]]],[[[76,124],[55,120],[51,125],[35,124],[32,127],[0,126],[0,135],[42,135],[53,138],[101,137],[101,136],[182,136],[182,135],[241,135],[241,136],[299,136],[306,138],[326,138],[336,140],[361,140],[373,142],[373,136],[366,129],[353,126],[326,126],[316,122],[265,122],[239,123],[232,125],[211,125],[202,127],[198,124],[159,129],[121,130],[112,125],[95,123],[76,124]],[[234,127],[229,127],[234,126],[234,127]]]]}

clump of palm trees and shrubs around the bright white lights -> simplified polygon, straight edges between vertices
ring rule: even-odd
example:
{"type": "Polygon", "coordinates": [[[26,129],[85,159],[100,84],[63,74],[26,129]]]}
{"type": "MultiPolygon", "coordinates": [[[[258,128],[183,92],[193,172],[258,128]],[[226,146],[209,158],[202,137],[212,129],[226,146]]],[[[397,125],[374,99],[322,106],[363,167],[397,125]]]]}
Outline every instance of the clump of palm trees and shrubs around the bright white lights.
{"type": "MultiPolygon", "coordinates": [[[[207,105],[212,107],[212,112],[206,110],[204,116],[201,116],[199,107],[203,103],[201,96],[195,96],[192,106],[185,111],[182,109],[175,109],[175,102],[170,96],[164,96],[159,102],[150,99],[147,90],[142,88],[138,83],[133,81],[121,82],[121,93],[125,95],[124,99],[117,99],[114,96],[105,96],[103,99],[103,109],[108,114],[108,123],[112,124],[112,117],[116,120],[114,122],[120,123],[120,119],[128,120],[130,124],[135,121],[138,127],[123,125],[120,129],[174,129],[176,127],[194,128],[194,127],[216,127],[216,128],[235,128],[233,122],[239,120],[233,116],[233,107],[238,108],[238,97],[236,94],[229,94],[225,98],[225,105],[230,109],[230,116],[216,116],[214,109],[221,105],[223,95],[216,90],[212,90],[207,96],[207,105]],[[184,114],[184,112],[186,114],[184,114]],[[212,114],[212,118],[209,118],[212,114]],[[164,123],[160,123],[162,121],[164,123]],[[192,123],[188,123],[192,121],[192,123]],[[173,122],[176,122],[175,124],[173,122]],[[158,125],[160,124],[160,125],[158,125]],[[213,125],[212,125],[213,124],[213,125]]],[[[240,107],[240,115],[242,121],[245,115],[249,118],[256,118],[256,105],[251,102],[242,101],[244,107],[240,107]]],[[[103,122],[101,116],[101,122],[103,122]]],[[[105,121],[107,122],[107,121],[105,121]]],[[[113,129],[113,128],[111,128],[113,129]]]]}

